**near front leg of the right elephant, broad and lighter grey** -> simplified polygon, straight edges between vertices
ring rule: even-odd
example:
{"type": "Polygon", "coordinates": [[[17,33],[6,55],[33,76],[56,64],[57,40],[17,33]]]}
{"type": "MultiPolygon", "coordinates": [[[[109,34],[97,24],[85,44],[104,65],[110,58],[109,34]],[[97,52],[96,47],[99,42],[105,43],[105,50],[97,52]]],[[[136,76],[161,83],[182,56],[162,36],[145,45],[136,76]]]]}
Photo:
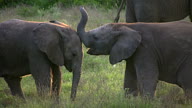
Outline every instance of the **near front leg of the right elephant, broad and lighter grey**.
{"type": "Polygon", "coordinates": [[[137,81],[141,96],[153,97],[158,82],[158,68],[148,61],[136,65],[137,81]]]}

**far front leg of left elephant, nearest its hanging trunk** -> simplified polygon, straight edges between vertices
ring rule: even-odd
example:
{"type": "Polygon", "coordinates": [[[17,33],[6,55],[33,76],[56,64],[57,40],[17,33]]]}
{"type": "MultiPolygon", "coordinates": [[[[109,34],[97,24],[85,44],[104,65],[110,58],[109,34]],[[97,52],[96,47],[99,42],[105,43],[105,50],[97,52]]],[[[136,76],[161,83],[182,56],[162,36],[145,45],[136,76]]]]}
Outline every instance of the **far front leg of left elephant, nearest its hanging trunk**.
{"type": "Polygon", "coordinates": [[[52,93],[54,96],[59,96],[60,90],[61,90],[61,71],[59,66],[52,64],[52,75],[53,75],[53,81],[52,81],[52,93]]]}

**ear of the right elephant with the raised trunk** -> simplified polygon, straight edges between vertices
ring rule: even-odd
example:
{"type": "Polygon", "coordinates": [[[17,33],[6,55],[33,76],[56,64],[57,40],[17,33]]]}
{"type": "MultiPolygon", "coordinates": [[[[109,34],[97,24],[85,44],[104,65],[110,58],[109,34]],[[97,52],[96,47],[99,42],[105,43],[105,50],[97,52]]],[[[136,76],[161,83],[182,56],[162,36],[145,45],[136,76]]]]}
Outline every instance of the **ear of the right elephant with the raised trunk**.
{"type": "Polygon", "coordinates": [[[127,27],[122,27],[117,41],[110,51],[110,63],[116,64],[129,58],[136,51],[140,42],[141,35],[139,32],[127,27]]]}

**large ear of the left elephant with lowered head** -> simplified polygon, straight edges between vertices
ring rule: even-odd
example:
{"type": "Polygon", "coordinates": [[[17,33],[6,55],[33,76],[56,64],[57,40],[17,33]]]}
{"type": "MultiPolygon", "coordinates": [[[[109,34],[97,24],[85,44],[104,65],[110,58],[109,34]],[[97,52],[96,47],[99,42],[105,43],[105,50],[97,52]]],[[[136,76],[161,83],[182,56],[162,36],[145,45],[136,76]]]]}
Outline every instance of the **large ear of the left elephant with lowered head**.
{"type": "Polygon", "coordinates": [[[39,24],[33,29],[34,40],[38,48],[47,54],[49,60],[54,64],[63,65],[64,57],[62,49],[60,48],[60,31],[54,25],[39,24]]]}

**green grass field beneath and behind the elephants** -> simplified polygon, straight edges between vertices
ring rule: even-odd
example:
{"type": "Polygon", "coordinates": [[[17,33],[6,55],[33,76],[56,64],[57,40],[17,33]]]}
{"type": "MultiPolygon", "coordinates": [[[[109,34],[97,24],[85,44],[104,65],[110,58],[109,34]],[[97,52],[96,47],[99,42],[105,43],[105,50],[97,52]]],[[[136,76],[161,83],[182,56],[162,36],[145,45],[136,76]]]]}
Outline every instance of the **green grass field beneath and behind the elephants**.
{"type": "MultiPolygon", "coordinates": [[[[86,7],[89,21],[86,30],[93,29],[105,23],[113,22],[116,9],[98,9],[86,7]]],[[[125,18],[121,14],[121,22],[125,18]]],[[[0,10],[0,21],[9,19],[31,21],[58,20],[76,29],[80,19],[78,7],[61,8],[54,6],[48,10],[36,7],[18,6],[0,10]],[[29,12],[30,11],[30,12],[29,12]],[[34,12],[33,12],[34,11],[34,12]]],[[[159,82],[156,97],[153,100],[141,97],[124,97],[123,76],[125,62],[110,65],[108,56],[91,56],[84,50],[82,77],[78,87],[76,101],[70,101],[72,74],[62,67],[62,91],[60,104],[54,103],[50,97],[38,97],[34,80],[31,76],[24,77],[22,89],[26,96],[23,102],[11,96],[7,84],[0,78],[0,108],[190,108],[192,102],[185,100],[183,91],[176,85],[159,82]]]]}

